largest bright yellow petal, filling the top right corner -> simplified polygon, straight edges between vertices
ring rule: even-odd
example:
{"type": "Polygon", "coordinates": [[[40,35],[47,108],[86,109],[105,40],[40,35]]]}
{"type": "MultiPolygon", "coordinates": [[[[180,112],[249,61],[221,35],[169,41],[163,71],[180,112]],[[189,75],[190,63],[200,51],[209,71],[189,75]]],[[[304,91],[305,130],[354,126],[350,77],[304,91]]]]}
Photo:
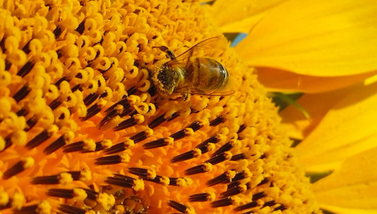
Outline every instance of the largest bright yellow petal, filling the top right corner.
{"type": "Polygon", "coordinates": [[[377,70],[375,0],[292,0],[236,47],[252,66],[333,77],[377,70]]]}

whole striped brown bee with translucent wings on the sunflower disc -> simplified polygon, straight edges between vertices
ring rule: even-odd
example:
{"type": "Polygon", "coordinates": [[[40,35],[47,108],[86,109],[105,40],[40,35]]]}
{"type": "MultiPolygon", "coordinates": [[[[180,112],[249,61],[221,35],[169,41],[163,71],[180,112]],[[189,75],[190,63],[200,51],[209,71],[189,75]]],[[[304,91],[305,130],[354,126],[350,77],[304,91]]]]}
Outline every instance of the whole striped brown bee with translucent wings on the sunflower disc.
{"type": "Polygon", "coordinates": [[[187,99],[188,95],[230,95],[225,91],[230,75],[228,70],[210,57],[201,57],[203,50],[214,48],[221,37],[205,39],[192,46],[178,57],[165,46],[160,46],[170,58],[156,69],[151,81],[164,97],[178,94],[187,99]]]}

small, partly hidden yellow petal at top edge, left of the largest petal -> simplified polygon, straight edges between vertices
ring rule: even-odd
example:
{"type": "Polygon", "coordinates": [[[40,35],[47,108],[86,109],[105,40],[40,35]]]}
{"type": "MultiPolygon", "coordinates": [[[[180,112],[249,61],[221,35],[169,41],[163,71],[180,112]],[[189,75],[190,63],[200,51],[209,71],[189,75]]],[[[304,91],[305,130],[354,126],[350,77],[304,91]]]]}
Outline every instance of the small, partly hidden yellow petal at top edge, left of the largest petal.
{"type": "Polygon", "coordinates": [[[235,0],[230,3],[228,0],[217,0],[212,6],[212,14],[222,32],[249,32],[271,8],[283,1],[235,0]]]}

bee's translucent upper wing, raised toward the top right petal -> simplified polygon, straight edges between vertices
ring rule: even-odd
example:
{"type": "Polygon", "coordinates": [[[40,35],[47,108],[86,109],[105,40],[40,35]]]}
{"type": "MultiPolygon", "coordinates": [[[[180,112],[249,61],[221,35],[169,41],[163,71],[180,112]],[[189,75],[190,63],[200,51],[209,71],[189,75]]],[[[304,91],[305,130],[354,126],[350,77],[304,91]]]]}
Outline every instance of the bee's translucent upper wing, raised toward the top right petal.
{"type": "Polygon", "coordinates": [[[221,47],[220,44],[224,41],[226,41],[226,39],[222,36],[204,39],[203,41],[196,43],[196,45],[192,46],[185,52],[181,53],[181,55],[178,55],[178,57],[176,57],[175,59],[168,61],[166,64],[169,66],[174,66],[177,64],[185,65],[191,57],[203,57],[203,55],[205,55],[205,52],[203,50],[223,48],[224,46],[221,47]]]}

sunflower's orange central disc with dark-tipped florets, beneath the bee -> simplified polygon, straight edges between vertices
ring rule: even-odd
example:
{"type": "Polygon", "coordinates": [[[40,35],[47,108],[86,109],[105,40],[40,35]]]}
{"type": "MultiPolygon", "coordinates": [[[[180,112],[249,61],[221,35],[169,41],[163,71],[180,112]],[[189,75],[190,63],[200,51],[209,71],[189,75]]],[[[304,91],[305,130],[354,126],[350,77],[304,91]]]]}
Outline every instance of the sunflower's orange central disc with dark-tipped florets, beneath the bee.
{"type": "Polygon", "coordinates": [[[209,5],[0,5],[1,212],[319,212],[277,108],[209,5]],[[231,93],[161,94],[159,70],[208,38],[174,66],[210,57],[231,93]]]}

